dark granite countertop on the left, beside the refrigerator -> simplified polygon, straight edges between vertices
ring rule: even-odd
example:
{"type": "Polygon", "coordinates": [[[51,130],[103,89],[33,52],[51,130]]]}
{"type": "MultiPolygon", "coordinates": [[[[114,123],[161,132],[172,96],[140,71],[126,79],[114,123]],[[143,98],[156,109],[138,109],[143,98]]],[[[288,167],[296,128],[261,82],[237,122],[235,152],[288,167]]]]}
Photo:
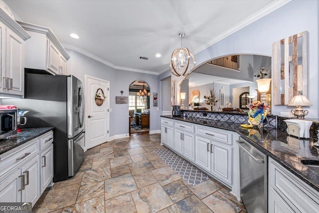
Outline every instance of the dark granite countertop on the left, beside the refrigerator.
{"type": "Polygon", "coordinates": [[[4,139],[0,141],[0,155],[18,147],[26,142],[43,135],[44,133],[53,130],[54,127],[42,127],[42,128],[30,128],[23,129],[22,132],[17,133],[8,137],[9,139],[4,139]]]}

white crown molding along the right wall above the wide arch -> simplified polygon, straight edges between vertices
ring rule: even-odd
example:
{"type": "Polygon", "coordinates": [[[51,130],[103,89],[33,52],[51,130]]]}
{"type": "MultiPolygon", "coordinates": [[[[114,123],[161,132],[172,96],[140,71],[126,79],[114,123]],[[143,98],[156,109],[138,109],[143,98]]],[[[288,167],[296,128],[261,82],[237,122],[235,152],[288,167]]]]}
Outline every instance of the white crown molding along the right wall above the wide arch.
{"type": "Polygon", "coordinates": [[[250,15],[249,17],[245,18],[244,20],[240,21],[233,27],[227,29],[226,31],[220,33],[216,37],[212,38],[205,44],[203,44],[201,47],[197,49],[197,51],[194,51],[194,54],[197,54],[198,52],[208,48],[209,46],[213,45],[214,43],[217,43],[218,41],[224,39],[225,37],[233,34],[234,32],[244,28],[245,26],[253,23],[254,21],[258,20],[259,18],[271,13],[272,11],[278,9],[279,7],[285,5],[286,3],[290,2],[291,0],[275,0],[272,3],[268,4],[267,6],[263,7],[262,9],[258,10],[254,14],[250,15]]]}

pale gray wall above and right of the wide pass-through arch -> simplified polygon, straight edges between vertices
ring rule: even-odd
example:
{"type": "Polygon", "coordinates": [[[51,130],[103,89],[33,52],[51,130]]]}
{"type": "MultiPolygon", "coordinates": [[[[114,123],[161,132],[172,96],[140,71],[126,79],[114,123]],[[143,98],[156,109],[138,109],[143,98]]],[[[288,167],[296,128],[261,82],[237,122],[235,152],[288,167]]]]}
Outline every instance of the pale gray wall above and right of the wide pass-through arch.
{"type": "MultiPolygon", "coordinates": [[[[195,54],[197,66],[211,58],[231,54],[272,56],[273,43],[307,30],[308,98],[313,106],[303,107],[309,118],[319,118],[319,1],[293,0],[228,37],[195,54]],[[311,20],[311,21],[310,21],[311,20]]],[[[160,79],[169,75],[169,70],[160,79]]],[[[290,112],[294,107],[272,106],[272,113],[290,112]]]]}

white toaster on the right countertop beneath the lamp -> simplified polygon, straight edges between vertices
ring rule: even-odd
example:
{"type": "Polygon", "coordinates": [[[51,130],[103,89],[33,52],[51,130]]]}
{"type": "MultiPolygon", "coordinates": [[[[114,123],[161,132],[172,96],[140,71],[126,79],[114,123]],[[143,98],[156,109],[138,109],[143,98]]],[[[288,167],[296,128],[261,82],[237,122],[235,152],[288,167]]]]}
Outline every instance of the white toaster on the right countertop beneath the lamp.
{"type": "Polygon", "coordinates": [[[287,133],[290,136],[298,138],[310,138],[309,129],[313,124],[312,121],[305,121],[299,119],[284,120],[287,124],[287,133]]]}

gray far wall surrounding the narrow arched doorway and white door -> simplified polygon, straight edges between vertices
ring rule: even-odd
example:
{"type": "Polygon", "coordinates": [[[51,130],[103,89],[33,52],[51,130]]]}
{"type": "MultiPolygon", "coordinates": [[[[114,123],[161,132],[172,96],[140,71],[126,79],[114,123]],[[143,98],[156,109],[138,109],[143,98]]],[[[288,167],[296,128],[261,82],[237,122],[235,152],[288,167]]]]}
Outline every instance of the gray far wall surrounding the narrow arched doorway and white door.
{"type": "MultiPolygon", "coordinates": [[[[110,136],[129,133],[128,125],[126,128],[129,118],[129,104],[115,104],[115,96],[120,96],[121,90],[124,91],[123,96],[128,96],[129,86],[134,80],[144,80],[150,85],[152,100],[153,92],[157,92],[158,97],[161,97],[158,75],[113,69],[71,49],[67,49],[67,52],[70,55],[67,64],[68,74],[76,76],[83,84],[85,84],[85,74],[110,81],[110,108],[112,109],[112,112],[110,112],[110,136]]],[[[153,107],[153,101],[151,101],[149,107],[151,131],[160,130],[160,98],[158,106],[159,111],[157,110],[158,107],[153,107]]]]}

